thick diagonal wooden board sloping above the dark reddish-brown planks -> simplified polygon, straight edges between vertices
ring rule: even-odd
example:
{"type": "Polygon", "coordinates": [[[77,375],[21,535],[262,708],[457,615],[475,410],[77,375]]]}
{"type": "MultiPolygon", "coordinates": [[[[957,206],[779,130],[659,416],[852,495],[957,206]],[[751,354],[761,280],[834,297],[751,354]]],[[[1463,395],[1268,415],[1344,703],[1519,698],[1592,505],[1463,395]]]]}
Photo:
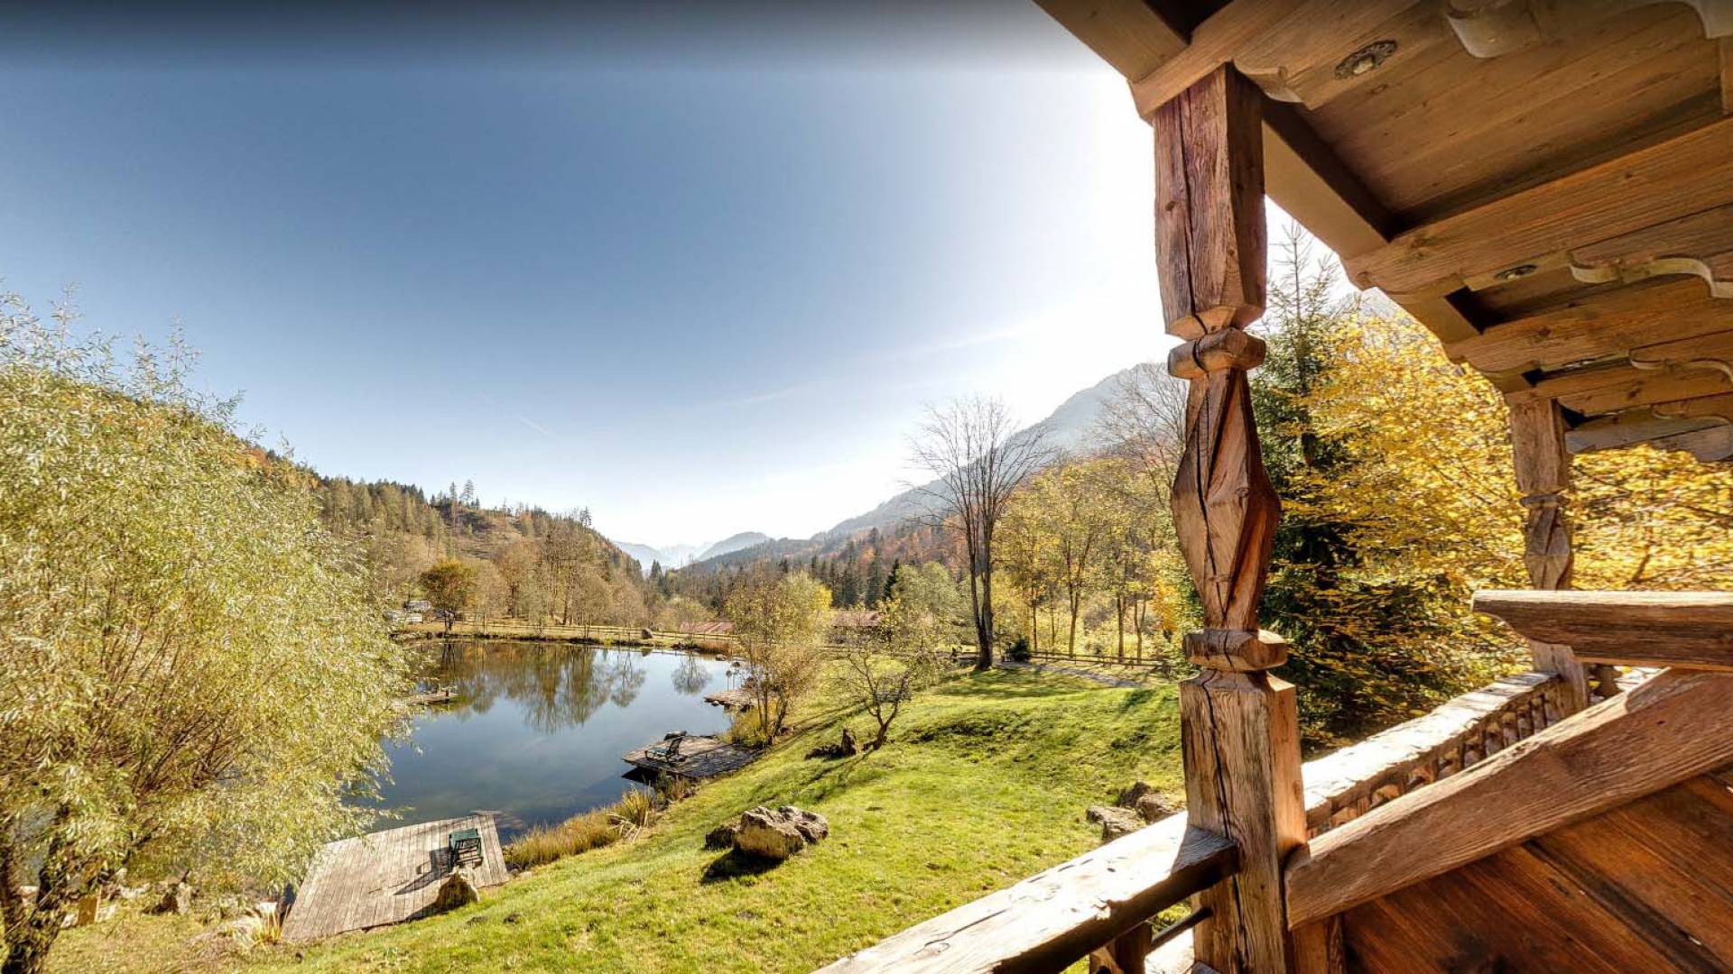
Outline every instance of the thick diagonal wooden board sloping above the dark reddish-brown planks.
{"type": "MultiPolygon", "coordinates": [[[[1532,594],[1532,593],[1527,593],[1532,594]]],[[[1733,676],[1662,672],[1333,832],[1288,867],[1321,920],[1733,761],[1733,676]]]]}

